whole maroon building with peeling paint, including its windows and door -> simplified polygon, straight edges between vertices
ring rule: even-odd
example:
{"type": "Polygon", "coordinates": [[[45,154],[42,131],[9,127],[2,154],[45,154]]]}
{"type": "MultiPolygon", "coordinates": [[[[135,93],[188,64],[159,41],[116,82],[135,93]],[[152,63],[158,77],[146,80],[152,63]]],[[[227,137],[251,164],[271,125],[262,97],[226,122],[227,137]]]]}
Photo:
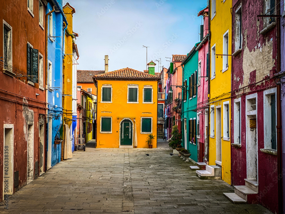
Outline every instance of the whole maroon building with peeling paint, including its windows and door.
{"type": "Polygon", "coordinates": [[[235,193],[278,212],[274,1],[233,0],[231,168],[235,193]],[[249,18],[250,17],[250,18],[249,18]]]}

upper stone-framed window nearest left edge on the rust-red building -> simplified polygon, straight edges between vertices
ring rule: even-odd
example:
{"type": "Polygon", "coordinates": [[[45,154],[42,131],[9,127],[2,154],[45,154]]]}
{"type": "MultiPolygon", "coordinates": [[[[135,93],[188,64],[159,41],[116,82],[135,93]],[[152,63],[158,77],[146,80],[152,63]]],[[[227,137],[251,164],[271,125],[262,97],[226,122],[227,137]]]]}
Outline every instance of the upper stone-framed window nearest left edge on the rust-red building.
{"type": "Polygon", "coordinates": [[[12,71],[12,27],[3,20],[3,61],[4,69],[12,71]]]}

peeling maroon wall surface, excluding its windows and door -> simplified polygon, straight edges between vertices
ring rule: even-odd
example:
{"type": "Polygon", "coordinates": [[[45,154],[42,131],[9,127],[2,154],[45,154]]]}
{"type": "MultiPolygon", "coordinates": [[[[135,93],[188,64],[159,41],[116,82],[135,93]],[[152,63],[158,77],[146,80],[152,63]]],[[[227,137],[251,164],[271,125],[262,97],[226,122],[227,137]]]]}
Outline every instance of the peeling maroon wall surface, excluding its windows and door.
{"type": "MultiPolygon", "coordinates": [[[[256,93],[257,113],[257,176],[258,176],[258,203],[270,209],[278,211],[277,182],[272,182],[277,177],[277,156],[263,153],[264,148],[264,111],[263,91],[276,87],[274,74],[277,65],[277,29],[273,27],[262,35],[260,31],[268,25],[268,20],[258,18],[264,14],[264,0],[233,1],[233,43],[232,49],[237,50],[237,21],[235,11],[241,6],[242,12],[242,46],[241,52],[232,57],[232,103],[236,98],[241,98],[241,148],[232,146],[232,184],[245,185],[247,178],[247,141],[249,138],[249,118],[246,111],[246,96],[256,93]],[[248,17],[251,17],[250,19],[248,17]]],[[[234,52],[234,51],[233,51],[234,52]]],[[[232,106],[233,107],[233,106],[232,106]]],[[[234,114],[234,108],[232,115],[234,114]]],[[[232,117],[232,123],[235,120],[232,117]]],[[[234,126],[231,126],[231,137],[234,138],[234,126]]],[[[249,142],[249,141],[248,141],[249,142]]]]}

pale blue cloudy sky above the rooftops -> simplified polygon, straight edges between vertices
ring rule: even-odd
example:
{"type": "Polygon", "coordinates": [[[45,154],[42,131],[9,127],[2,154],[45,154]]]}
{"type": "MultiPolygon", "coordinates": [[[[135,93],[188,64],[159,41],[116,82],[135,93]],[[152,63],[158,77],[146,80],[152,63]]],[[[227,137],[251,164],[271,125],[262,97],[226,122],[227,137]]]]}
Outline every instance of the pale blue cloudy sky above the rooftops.
{"type": "Polygon", "coordinates": [[[73,31],[79,34],[78,70],[109,71],[133,68],[143,71],[147,61],[169,67],[166,57],[187,54],[200,41],[207,0],[64,0],[76,9],[73,31]]]}

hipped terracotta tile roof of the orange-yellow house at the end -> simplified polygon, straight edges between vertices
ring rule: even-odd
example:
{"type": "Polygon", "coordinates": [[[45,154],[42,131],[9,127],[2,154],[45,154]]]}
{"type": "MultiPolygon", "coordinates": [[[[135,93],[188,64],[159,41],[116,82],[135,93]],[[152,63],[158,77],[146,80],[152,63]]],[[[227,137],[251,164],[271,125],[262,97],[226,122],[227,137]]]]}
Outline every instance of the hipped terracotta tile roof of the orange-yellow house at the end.
{"type": "Polygon", "coordinates": [[[145,72],[141,72],[132,68],[122,68],[120,70],[114,70],[111,72],[107,72],[104,74],[97,74],[94,76],[95,78],[155,78],[158,77],[156,75],[151,75],[145,72]]]}

